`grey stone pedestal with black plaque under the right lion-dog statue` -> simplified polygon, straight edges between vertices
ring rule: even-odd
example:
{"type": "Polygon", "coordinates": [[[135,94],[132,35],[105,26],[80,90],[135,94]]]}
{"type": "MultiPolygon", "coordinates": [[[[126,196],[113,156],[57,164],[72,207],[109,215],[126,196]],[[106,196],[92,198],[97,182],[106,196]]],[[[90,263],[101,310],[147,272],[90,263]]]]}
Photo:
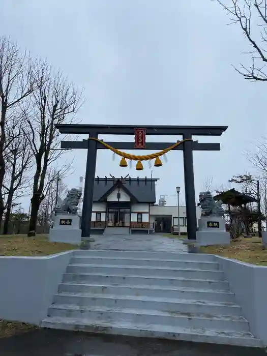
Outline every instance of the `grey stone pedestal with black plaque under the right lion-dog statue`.
{"type": "Polygon", "coordinates": [[[230,233],[225,230],[224,218],[202,216],[198,219],[196,241],[199,246],[230,245],[230,233]]]}

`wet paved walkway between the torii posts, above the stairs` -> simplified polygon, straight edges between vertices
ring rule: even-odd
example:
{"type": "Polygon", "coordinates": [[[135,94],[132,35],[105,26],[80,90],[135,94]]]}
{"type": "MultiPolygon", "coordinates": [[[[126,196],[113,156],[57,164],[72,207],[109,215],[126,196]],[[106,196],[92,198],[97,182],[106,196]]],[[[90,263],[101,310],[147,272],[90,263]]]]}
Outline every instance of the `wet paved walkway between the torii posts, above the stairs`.
{"type": "Polygon", "coordinates": [[[171,239],[158,233],[128,235],[92,235],[96,240],[90,243],[98,250],[133,250],[155,252],[187,252],[187,246],[177,238],[171,239]]]}

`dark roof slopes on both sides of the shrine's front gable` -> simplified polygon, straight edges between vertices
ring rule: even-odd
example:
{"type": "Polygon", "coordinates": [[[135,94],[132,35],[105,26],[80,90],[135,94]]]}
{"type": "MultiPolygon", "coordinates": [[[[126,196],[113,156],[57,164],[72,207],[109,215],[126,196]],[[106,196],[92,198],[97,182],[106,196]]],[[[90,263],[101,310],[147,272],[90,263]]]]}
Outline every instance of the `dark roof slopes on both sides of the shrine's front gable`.
{"type": "MultiPolygon", "coordinates": [[[[158,179],[156,178],[149,179],[129,177],[127,179],[121,180],[121,184],[126,193],[134,196],[138,202],[155,203],[155,183],[157,181],[158,179]]],[[[112,178],[95,178],[93,201],[101,201],[101,198],[113,187],[114,180],[112,178]]]]}

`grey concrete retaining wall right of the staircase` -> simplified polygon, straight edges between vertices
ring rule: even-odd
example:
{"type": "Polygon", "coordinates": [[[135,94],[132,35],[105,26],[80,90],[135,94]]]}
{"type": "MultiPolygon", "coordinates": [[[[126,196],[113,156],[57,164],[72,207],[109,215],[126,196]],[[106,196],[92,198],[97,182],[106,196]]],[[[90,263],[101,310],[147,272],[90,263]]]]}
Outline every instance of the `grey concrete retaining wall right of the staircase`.
{"type": "Polygon", "coordinates": [[[267,345],[267,266],[217,256],[251,332],[267,345]]]}

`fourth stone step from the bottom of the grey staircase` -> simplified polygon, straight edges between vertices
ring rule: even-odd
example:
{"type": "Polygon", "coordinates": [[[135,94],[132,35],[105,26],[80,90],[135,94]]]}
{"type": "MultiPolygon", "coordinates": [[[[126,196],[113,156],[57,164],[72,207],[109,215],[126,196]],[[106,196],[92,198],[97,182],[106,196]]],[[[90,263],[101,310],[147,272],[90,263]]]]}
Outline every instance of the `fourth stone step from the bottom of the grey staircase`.
{"type": "Polygon", "coordinates": [[[136,296],[155,296],[170,299],[189,299],[214,302],[234,302],[234,294],[230,291],[196,289],[196,288],[161,288],[151,286],[112,286],[100,284],[69,284],[61,283],[58,287],[59,292],[71,293],[91,293],[91,294],[112,294],[112,295],[136,295],[136,296]]]}

